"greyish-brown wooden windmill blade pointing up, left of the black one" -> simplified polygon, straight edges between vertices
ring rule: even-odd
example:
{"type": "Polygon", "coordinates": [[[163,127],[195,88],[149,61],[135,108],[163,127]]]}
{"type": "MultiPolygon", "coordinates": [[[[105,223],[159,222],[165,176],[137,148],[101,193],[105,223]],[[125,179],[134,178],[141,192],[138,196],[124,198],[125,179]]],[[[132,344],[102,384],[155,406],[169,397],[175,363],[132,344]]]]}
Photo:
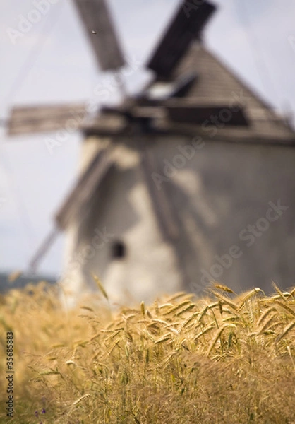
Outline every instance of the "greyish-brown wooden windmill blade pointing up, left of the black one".
{"type": "Polygon", "coordinates": [[[104,0],[74,0],[95,56],[103,71],[118,69],[125,61],[104,0]]]}

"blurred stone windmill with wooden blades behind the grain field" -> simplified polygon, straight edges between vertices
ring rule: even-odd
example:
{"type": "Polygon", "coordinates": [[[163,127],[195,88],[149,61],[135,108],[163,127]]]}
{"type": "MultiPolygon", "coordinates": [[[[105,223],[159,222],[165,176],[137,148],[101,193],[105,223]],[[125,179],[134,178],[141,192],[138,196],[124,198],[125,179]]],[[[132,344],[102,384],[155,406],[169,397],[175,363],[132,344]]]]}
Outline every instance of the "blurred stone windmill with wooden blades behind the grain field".
{"type": "MultiPolygon", "coordinates": [[[[104,1],[76,5],[102,69],[119,69],[104,1]]],[[[214,279],[293,283],[294,131],[206,49],[213,11],[183,1],[148,61],[152,82],[82,125],[80,174],[56,214],[72,298],[95,290],[92,273],[120,302],[214,279]]],[[[62,127],[79,108],[16,108],[11,133],[62,127]]]]}

